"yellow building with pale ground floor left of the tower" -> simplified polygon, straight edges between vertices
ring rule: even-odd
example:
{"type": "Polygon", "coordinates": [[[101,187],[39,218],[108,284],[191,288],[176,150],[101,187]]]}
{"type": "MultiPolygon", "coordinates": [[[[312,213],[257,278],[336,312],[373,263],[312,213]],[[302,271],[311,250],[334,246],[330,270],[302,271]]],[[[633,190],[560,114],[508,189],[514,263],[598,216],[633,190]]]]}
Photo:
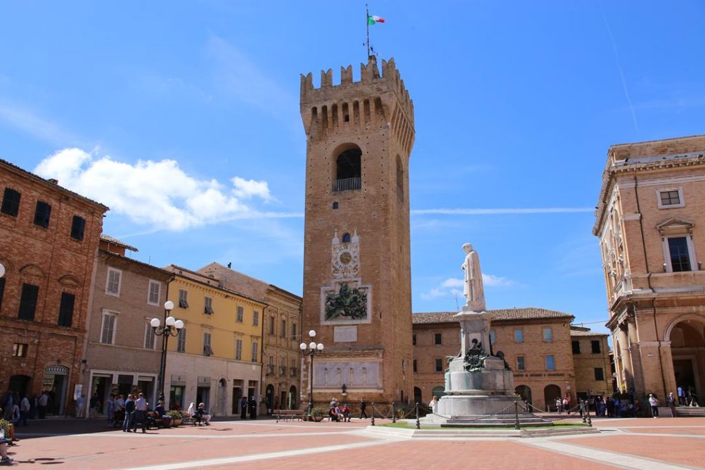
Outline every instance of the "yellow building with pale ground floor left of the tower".
{"type": "Polygon", "coordinates": [[[215,416],[240,414],[243,395],[259,402],[266,303],[180,266],[166,270],[174,273],[167,294],[171,316],[185,323],[168,342],[168,405],[204,402],[215,416]]]}

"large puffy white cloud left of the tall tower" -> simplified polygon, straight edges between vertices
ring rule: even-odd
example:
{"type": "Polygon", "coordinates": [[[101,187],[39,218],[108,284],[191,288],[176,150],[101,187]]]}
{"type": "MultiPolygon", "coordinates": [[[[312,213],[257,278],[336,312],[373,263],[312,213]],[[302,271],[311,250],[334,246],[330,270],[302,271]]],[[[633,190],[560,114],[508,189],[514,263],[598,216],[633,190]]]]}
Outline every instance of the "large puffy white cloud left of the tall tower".
{"type": "Polygon", "coordinates": [[[232,178],[232,187],[199,180],[174,160],[140,160],[130,164],[96,151],[63,149],[42,160],[35,173],[96,199],[111,211],[156,229],[185,230],[235,218],[288,217],[262,213],[243,199],[272,199],[266,181],[232,178]]]}

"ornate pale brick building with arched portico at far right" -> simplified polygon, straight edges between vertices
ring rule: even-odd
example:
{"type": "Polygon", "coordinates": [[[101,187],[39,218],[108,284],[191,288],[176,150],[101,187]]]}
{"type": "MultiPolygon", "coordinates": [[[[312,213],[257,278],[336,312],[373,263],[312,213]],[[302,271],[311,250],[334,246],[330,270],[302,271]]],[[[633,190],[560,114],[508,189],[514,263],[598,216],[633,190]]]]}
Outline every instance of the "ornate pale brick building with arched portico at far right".
{"type": "Polygon", "coordinates": [[[705,135],[613,145],[595,211],[618,387],[705,392],[705,135]]]}

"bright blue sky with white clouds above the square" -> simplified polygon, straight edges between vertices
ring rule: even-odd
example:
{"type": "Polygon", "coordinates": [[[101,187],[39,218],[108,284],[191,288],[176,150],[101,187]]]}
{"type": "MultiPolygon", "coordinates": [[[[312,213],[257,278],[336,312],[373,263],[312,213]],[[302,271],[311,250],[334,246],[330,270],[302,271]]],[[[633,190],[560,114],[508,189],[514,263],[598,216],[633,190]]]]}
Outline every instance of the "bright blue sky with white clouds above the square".
{"type": "MultiPolygon", "coordinates": [[[[456,308],[472,242],[489,308],[605,320],[606,150],[703,132],[705,4],[370,3],[415,103],[414,310],[456,308]]],[[[363,42],[362,1],[3,2],[0,157],[111,206],[141,261],[300,293],[299,74],[357,78],[363,42]]]]}

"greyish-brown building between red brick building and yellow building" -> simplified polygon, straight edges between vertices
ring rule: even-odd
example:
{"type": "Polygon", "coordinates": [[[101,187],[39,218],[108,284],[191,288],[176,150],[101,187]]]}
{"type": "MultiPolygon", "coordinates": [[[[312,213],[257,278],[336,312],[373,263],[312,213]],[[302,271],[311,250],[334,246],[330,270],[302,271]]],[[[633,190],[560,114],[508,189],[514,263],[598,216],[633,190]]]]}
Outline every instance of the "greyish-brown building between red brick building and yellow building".
{"type": "Polygon", "coordinates": [[[161,337],[154,335],[149,321],[164,321],[172,275],[126,257],[125,249],[137,251],[102,235],[88,314],[84,389],[89,397],[97,395],[103,412],[111,393],[143,392],[152,406],[159,396],[161,337]]]}

